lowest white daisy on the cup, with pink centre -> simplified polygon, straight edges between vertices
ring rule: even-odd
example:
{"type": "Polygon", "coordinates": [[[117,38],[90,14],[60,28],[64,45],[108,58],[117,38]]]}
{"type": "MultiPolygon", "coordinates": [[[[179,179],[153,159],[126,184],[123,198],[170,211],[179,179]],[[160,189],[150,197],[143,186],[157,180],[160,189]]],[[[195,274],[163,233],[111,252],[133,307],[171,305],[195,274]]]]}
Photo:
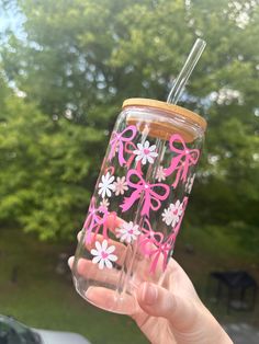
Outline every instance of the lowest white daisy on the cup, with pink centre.
{"type": "Polygon", "coordinates": [[[115,246],[108,246],[106,239],[102,243],[95,241],[95,249],[91,250],[91,254],[94,255],[92,259],[93,264],[98,264],[98,267],[103,270],[103,267],[112,268],[112,262],[116,262],[117,256],[112,254],[115,251],[115,246]]]}

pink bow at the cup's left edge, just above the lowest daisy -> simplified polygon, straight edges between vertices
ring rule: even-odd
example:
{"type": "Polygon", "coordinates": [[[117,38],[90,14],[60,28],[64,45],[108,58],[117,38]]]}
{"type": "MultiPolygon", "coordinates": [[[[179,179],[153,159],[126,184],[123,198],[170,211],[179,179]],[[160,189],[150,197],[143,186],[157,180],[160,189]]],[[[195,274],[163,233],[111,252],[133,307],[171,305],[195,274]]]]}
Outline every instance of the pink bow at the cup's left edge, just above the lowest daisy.
{"type": "Polygon", "coordinates": [[[87,230],[87,243],[91,242],[91,232],[94,231],[95,234],[99,232],[100,228],[103,226],[103,237],[106,239],[108,234],[108,227],[106,227],[106,219],[108,219],[108,209],[105,207],[94,207],[94,198],[92,198],[90,206],[89,206],[89,215],[86,218],[83,223],[83,229],[87,230]],[[98,213],[102,213],[103,215],[100,216],[98,213]]]}

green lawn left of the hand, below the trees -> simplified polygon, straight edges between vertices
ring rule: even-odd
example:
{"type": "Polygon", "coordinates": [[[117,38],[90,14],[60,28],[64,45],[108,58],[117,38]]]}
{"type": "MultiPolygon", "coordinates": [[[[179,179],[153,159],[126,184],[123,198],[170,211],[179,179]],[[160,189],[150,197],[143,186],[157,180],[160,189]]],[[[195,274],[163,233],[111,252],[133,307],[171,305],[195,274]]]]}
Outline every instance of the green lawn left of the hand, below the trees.
{"type": "Polygon", "coordinates": [[[147,343],[130,318],[92,307],[76,294],[69,278],[56,274],[58,254],[65,249],[1,230],[0,313],[34,328],[81,333],[93,344],[147,343]],[[18,282],[11,283],[14,265],[18,282]]]}

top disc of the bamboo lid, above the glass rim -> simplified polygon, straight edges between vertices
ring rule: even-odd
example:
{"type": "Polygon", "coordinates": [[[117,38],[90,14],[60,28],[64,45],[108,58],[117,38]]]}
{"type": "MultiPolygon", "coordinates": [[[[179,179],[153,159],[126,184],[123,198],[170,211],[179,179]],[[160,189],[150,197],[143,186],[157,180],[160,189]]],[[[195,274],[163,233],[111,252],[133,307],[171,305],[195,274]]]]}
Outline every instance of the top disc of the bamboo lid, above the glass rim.
{"type": "Polygon", "coordinates": [[[174,105],[174,104],[168,104],[166,102],[160,102],[151,99],[145,99],[145,98],[131,98],[123,102],[122,108],[125,108],[127,106],[148,106],[148,107],[155,107],[161,111],[167,112],[167,114],[170,116],[174,114],[179,114],[180,116],[183,116],[188,119],[191,119],[195,124],[198,124],[200,127],[202,127],[203,130],[206,129],[206,121],[195,114],[194,112],[187,110],[184,107],[174,105]]]}

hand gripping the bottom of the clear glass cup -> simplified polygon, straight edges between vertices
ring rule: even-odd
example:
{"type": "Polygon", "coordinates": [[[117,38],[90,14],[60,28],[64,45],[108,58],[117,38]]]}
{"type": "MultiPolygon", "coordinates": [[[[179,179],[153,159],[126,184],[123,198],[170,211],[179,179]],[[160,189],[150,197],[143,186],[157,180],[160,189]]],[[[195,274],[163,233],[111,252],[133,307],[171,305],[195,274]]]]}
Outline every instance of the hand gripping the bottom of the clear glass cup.
{"type": "MultiPolygon", "coordinates": [[[[109,227],[110,229],[115,228],[114,223],[110,223],[109,227]]],[[[99,239],[101,240],[101,238],[99,239]]],[[[120,245],[119,249],[122,250],[122,243],[115,241],[112,243],[116,246],[120,245]]],[[[70,267],[74,257],[70,257],[68,261],[70,267]]],[[[88,264],[88,262],[83,264],[88,264]]],[[[145,263],[143,262],[143,264],[145,263]]],[[[142,275],[143,271],[145,268],[142,270],[142,275]]],[[[89,277],[86,268],[82,268],[82,274],[86,275],[86,278],[89,277]]],[[[145,280],[145,276],[143,279],[145,280]]],[[[101,295],[97,294],[95,296],[93,293],[94,301],[97,301],[97,297],[99,303],[106,302],[110,290],[102,288],[101,295]]],[[[170,259],[168,263],[162,285],[140,283],[136,290],[136,299],[138,307],[131,317],[153,344],[233,343],[202,303],[190,278],[173,259],[170,259]]]]}

